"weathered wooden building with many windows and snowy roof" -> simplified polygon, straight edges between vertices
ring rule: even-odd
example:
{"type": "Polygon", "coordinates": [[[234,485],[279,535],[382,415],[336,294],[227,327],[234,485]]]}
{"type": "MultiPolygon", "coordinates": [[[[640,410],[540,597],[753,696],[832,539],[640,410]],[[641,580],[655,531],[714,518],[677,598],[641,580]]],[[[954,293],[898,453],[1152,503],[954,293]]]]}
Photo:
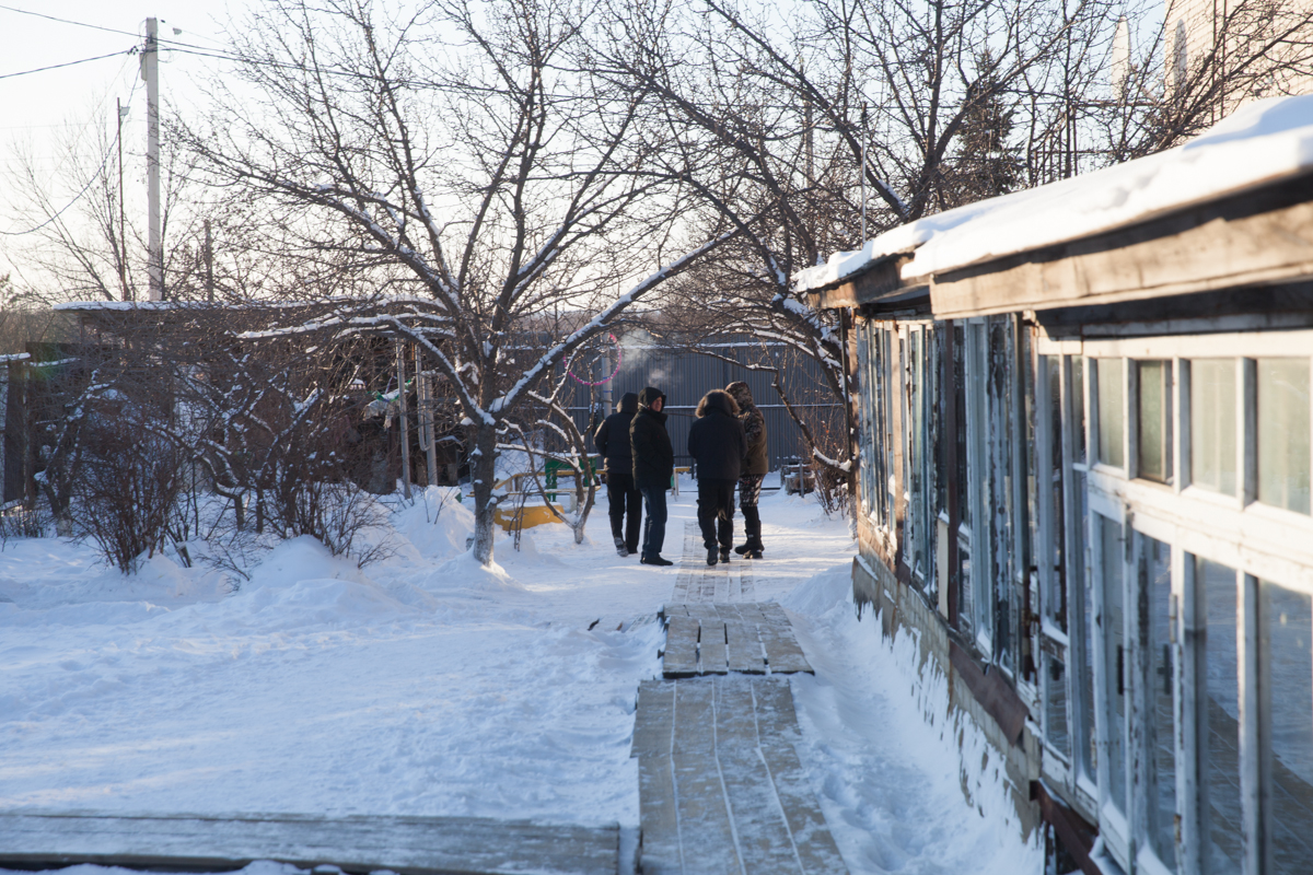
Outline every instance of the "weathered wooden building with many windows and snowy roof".
{"type": "Polygon", "coordinates": [[[797,282],[853,328],[855,596],[1023,829],[1086,872],[1313,871],[1313,98],[797,282]]]}

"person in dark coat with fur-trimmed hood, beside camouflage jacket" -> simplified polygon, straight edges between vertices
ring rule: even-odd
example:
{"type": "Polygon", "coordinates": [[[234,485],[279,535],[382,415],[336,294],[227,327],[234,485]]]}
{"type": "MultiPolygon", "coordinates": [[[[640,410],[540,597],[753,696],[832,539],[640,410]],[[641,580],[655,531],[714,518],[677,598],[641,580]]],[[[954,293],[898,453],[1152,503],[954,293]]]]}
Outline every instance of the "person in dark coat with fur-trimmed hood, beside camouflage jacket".
{"type": "Polygon", "coordinates": [[[730,394],[713,388],[697,404],[697,421],[688,429],[688,454],[697,462],[697,525],[702,530],[706,564],[730,560],[734,546],[734,484],[747,455],[747,437],[730,394]]]}

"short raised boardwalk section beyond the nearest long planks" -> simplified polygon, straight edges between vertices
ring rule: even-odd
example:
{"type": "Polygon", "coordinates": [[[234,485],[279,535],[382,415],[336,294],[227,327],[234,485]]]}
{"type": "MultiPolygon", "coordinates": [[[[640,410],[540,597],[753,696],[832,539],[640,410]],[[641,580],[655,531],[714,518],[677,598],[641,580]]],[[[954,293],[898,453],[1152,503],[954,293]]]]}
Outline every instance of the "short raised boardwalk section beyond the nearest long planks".
{"type": "Polygon", "coordinates": [[[814,674],[784,610],[773,603],[666,605],[662,676],[814,674]]]}

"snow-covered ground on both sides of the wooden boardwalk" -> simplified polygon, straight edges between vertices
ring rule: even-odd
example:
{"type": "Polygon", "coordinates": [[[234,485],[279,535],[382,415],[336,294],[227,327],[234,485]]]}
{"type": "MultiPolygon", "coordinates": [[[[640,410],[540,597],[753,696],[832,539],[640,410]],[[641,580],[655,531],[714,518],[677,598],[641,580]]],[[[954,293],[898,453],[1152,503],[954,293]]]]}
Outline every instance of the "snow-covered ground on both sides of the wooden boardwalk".
{"type": "MultiPolygon", "coordinates": [[[[293,540],[236,592],[165,558],[125,579],[84,544],[11,540],[0,809],[635,826],[634,698],[659,673],[654,621],[676,569],[617,556],[604,499],[584,544],[541,526],[519,552],[499,538],[499,567],[481,569],[463,551],[469,510],[435,514],[442,495],[393,514],[402,546],[386,561],[360,571],[293,540]]],[[[668,558],[695,512],[685,483],[668,558]]],[[[1037,872],[997,781],[968,805],[955,732],[923,720],[941,678],[918,683],[911,643],[857,623],[847,525],[783,493],[762,516],[756,598],[793,613],[817,669],[793,680],[801,754],[851,870],[1037,872]]]]}

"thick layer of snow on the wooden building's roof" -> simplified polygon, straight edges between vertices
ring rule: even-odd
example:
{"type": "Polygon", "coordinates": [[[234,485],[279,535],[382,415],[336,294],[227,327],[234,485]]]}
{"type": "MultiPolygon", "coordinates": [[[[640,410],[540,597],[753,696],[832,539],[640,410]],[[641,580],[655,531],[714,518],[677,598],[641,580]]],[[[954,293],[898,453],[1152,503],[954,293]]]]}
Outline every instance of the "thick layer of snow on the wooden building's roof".
{"type": "Polygon", "coordinates": [[[915,253],[902,278],[1078,240],[1313,169],[1313,94],[1259,101],[1184,146],[979,201],[893,228],[794,274],[815,291],[873,261],[915,253]]]}

